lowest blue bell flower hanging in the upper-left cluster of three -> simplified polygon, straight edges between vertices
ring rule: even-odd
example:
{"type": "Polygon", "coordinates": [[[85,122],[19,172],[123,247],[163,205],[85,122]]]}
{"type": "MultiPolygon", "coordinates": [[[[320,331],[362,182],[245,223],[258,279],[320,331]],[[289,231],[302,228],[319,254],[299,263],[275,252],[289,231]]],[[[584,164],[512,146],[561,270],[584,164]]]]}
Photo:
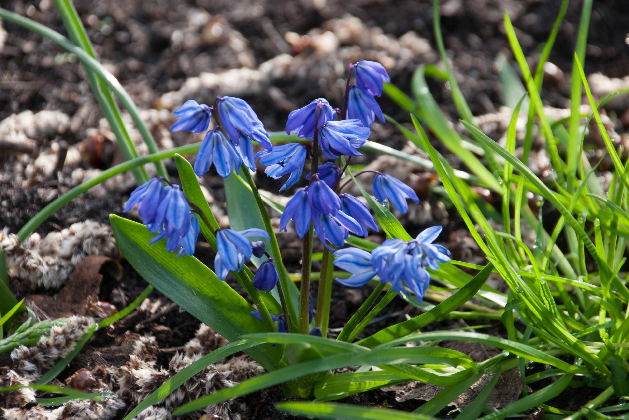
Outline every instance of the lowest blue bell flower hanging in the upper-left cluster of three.
{"type": "Polygon", "coordinates": [[[227,140],[218,125],[205,135],[194,161],[194,173],[197,176],[203,176],[212,164],[223,178],[230,176],[233,171],[238,173],[242,164],[242,159],[234,145],[227,140]]]}

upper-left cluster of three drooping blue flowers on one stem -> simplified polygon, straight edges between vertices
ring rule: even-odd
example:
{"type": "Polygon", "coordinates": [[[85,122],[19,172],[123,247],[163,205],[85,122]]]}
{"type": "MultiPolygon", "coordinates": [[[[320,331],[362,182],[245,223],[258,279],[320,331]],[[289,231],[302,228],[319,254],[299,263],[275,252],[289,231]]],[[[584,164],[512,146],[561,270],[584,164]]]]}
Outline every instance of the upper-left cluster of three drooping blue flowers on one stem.
{"type": "Polygon", "coordinates": [[[213,115],[220,123],[205,135],[194,161],[194,173],[203,176],[214,165],[216,172],[226,178],[233,171],[238,173],[243,163],[255,170],[252,142],[258,142],[269,151],[272,145],[269,133],[264,129],[258,116],[251,106],[240,98],[218,96],[214,106],[198,104],[192,99],[186,101],[175,111],[175,116],[179,120],[170,127],[170,130],[203,133],[208,130],[209,119],[213,115]]]}

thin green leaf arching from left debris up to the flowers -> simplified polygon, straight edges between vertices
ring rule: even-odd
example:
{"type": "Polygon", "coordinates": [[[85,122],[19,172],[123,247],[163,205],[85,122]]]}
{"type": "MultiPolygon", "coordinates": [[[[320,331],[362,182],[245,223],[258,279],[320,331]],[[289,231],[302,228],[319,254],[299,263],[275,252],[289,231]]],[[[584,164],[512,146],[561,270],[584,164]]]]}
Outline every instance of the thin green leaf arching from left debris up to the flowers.
{"type": "Polygon", "coordinates": [[[31,234],[31,232],[33,232],[33,230],[37,229],[37,227],[40,224],[42,224],[46,219],[48,219],[48,217],[50,217],[54,212],[64,207],[64,205],[66,205],[67,203],[69,203],[70,201],[72,201],[74,198],[81,195],[82,193],[86,192],[93,186],[96,186],[97,184],[100,184],[101,182],[106,181],[112,176],[116,176],[118,174],[121,174],[130,169],[133,169],[134,167],[141,166],[143,164],[147,164],[150,162],[157,162],[162,159],[168,159],[169,157],[175,156],[175,153],[179,153],[179,154],[194,153],[197,150],[199,150],[200,146],[201,146],[201,143],[195,143],[195,144],[188,144],[181,147],[175,147],[175,149],[164,150],[163,152],[153,153],[148,156],[136,157],[136,159],[131,159],[130,161],[126,161],[114,167],[110,167],[106,171],[103,171],[103,173],[101,173],[99,176],[95,176],[94,178],[89,179],[89,181],[85,181],[84,183],[75,186],[74,188],[72,188],[72,190],[68,191],[64,195],[57,198],[57,200],[53,201],[52,203],[44,207],[42,210],[40,210],[40,212],[37,213],[35,217],[33,217],[33,219],[29,220],[24,225],[24,227],[19,230],[18,232],[19,240],[24,241],[31,234]]]}

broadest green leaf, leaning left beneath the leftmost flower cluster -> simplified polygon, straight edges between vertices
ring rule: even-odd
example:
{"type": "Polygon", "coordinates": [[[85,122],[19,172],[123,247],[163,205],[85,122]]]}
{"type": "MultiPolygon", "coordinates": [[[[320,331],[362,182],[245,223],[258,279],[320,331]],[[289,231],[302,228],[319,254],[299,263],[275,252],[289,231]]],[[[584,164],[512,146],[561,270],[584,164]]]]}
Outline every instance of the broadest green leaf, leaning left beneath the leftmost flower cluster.
{"type": "MultiPolygon", "coordinates": [[[[154,235],[144,225],[116,215],[109,220],[116,243],[131,266],[196,319],[230,341],[265,331],[264,323],[250,315],[252,305],[201,261],[192,256],[176,258],[166,251],[164,240],[149,245],[154,235]]],[[[267,370],[279,363],[278,348],[250,349],[248,354],[267,370]]]]}

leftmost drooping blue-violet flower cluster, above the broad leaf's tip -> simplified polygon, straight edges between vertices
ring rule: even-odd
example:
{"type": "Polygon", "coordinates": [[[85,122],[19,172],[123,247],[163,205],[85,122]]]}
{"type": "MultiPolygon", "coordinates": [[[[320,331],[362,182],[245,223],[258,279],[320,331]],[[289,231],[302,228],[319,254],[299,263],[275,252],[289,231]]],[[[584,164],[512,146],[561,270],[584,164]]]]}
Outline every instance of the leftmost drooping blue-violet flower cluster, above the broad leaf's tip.
{"type": "Polygon", "coordinates": [[[130,212],[135,205],[142,223],[150,232],[157,234],[151,239],[151,244],[166,238],[169,253],[179,249],[178,257],[194,254],[199,220],[190,212],[190,205],[179,185],[164,185],[159,178],[152,178],[131,193],[123,213],[130,212]]]}

